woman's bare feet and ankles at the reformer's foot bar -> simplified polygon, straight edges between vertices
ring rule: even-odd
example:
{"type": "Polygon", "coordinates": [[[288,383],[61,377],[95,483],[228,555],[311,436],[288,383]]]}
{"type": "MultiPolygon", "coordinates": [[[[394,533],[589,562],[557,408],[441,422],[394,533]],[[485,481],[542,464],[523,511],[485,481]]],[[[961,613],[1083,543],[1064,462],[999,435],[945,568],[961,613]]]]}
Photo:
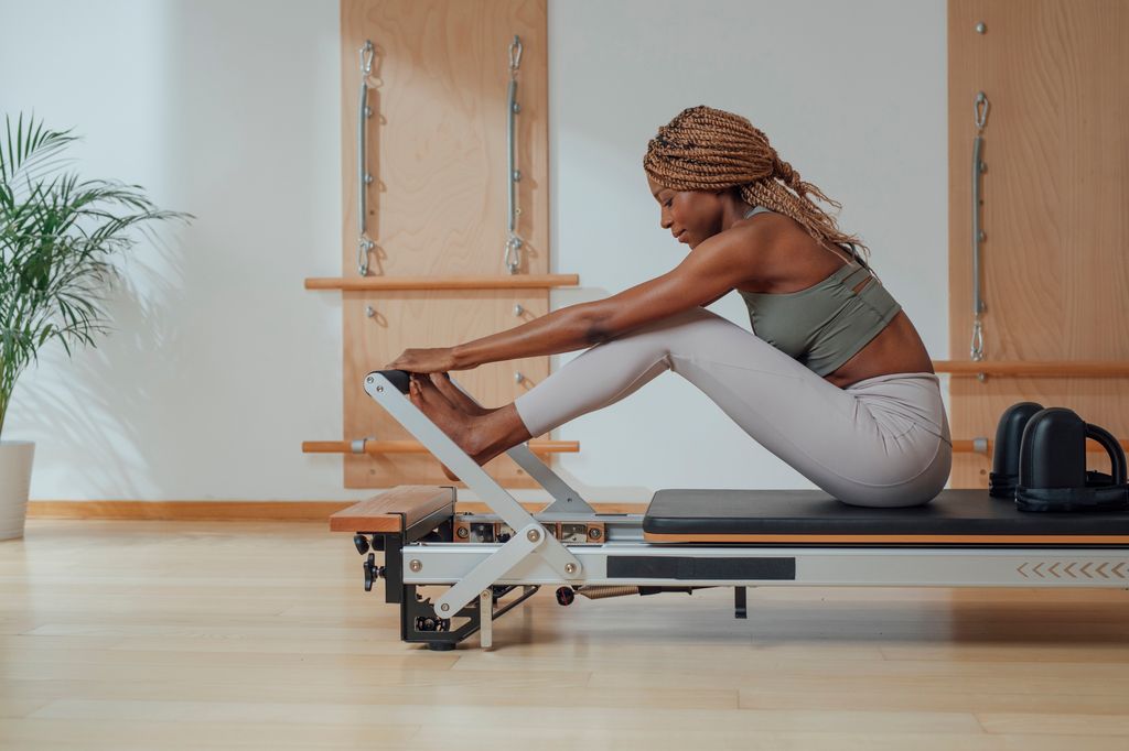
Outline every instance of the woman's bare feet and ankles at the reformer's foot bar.
{"type": "MultiPolygon", "coordinates": [[[[448,386],[457,391],[453,383],[448,386]]],[[[426,376],[412,376],[409,398],[480,466],[531,438],[513,404],[467,414],[426,376]]],[[[460,479],[446,466],[443,470],[448,479],[460,479]]]]}

